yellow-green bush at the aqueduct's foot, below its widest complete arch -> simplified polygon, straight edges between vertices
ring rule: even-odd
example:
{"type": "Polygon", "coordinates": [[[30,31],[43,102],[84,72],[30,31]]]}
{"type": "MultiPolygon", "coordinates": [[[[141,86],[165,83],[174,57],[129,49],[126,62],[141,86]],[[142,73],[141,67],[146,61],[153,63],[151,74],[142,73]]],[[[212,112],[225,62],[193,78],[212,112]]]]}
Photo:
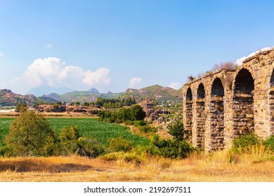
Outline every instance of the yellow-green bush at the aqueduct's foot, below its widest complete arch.
{"type": "Polygon", "coordinates": [[[261,144],[254,132],[250,134],[243,134],[233,141],[232,151],[234,153],[250,153],[252,146],[261,144]]]}

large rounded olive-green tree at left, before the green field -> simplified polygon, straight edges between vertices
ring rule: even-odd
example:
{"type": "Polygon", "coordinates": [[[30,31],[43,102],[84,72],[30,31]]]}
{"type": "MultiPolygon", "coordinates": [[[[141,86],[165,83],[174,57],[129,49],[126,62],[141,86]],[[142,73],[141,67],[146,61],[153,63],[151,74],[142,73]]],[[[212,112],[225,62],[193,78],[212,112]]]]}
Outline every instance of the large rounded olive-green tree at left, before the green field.
{"type": "Polygon", "coordinates": [[[55,132],[43,116],[24,111],[11,123],[5,142],[13,155],[40,156],[53,154],[55,139],[55,132]]]}

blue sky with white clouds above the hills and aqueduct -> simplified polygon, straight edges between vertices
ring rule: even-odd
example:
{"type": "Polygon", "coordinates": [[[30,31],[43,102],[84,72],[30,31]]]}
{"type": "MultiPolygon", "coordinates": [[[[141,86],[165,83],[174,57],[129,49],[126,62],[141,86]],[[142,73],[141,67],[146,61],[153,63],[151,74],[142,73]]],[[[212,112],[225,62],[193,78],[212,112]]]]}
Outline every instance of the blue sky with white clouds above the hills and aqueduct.
{"type": "Polygon", "coordinates": [[[0,88],[178,88],[273,47],[273,9],[252,0],[0,0],[0,88]]]}

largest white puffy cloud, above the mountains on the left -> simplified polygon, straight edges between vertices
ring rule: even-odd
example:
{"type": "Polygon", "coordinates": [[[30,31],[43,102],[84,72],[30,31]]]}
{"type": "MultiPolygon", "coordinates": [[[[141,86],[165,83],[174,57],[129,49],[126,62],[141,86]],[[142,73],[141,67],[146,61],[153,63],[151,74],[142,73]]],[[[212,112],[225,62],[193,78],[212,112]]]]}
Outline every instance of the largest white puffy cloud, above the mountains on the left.
{"type": "Polygon", "coordinates": [[[40,85],[87,90],[91,86],[108,85],[109,72],[110,69],[107,68],[100,68],[94,72],[84,71],[79,66],[66,66],[65,62],[56,57],[48,57],[34,60],[22,76],[15,78],[6,86],[20,93],[40,85]]]}

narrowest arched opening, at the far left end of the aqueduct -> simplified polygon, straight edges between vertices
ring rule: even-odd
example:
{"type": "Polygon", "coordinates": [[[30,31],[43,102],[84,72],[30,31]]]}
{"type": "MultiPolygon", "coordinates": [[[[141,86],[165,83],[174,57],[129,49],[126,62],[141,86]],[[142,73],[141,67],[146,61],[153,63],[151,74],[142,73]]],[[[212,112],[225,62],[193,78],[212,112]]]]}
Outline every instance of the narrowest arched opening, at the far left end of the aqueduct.
{"type": "Polygon", "coordinates": [[[191,141],[193,125],[193,93],[188,87],[185,99],[185,138],[191,141]]]}

